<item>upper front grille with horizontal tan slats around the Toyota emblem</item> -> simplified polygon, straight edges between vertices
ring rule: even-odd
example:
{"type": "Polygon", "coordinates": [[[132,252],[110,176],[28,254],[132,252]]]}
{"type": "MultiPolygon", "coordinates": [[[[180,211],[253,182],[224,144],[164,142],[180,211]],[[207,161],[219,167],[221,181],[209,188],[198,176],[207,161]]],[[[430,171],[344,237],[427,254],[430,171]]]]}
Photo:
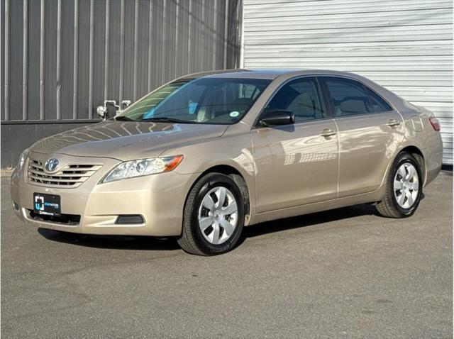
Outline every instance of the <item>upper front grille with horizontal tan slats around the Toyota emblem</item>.
{"type": "Polygon", "coordinates": [[[101,168],[101,165],[66,165],[54,174],[44,172],[43,162],[28,161],[28,182],[42,186],[77,187],[101,168]]]}

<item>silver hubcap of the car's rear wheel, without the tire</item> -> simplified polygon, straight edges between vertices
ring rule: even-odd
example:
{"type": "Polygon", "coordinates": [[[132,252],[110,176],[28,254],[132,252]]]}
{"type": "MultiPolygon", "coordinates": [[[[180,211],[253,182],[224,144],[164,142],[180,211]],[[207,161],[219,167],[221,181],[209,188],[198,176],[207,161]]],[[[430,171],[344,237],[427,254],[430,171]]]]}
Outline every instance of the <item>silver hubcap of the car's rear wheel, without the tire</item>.
{"type": "Polygon", "coordinates": [[[402,164],[394,176],[394,196],[402,209],[409,209],[416,201],[419,191],[419,177],[410,163],[402,164]]]}

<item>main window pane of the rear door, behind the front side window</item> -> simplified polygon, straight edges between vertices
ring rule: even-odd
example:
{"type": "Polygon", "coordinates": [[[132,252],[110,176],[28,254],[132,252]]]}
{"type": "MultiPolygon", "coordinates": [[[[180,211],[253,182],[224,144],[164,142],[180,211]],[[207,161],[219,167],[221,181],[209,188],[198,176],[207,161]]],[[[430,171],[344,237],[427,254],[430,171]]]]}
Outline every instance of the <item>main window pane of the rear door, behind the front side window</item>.
{"type": "Polygon", "coordinates": [[[323,77],[323,81],[335,117],[373,112],[366,88],[360,82],[340,77],[323,77]]]}

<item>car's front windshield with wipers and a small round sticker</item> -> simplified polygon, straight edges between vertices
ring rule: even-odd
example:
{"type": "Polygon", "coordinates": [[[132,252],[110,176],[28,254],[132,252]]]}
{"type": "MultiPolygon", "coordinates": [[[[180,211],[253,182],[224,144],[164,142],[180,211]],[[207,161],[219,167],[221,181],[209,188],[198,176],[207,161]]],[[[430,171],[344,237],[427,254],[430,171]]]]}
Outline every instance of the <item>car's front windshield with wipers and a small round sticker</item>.
{"type": "Polygon", "coordinates": [[[240,121],[269,79],[176,80],[128,107],[117,120],[232,124],[240,121]]]}

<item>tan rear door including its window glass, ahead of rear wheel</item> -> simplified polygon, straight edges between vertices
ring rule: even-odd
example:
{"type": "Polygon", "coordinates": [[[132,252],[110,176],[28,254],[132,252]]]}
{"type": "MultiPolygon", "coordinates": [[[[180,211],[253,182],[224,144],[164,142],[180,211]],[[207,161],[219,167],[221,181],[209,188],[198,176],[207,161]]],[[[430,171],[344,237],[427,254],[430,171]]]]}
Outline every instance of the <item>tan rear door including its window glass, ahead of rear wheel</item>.
{"type": "Polygon", "coordinates": [[[338,196],[374,191],[402,140],[402,116],[354,79],[321,77],[321,82],[338,128],[338,196]]]}

